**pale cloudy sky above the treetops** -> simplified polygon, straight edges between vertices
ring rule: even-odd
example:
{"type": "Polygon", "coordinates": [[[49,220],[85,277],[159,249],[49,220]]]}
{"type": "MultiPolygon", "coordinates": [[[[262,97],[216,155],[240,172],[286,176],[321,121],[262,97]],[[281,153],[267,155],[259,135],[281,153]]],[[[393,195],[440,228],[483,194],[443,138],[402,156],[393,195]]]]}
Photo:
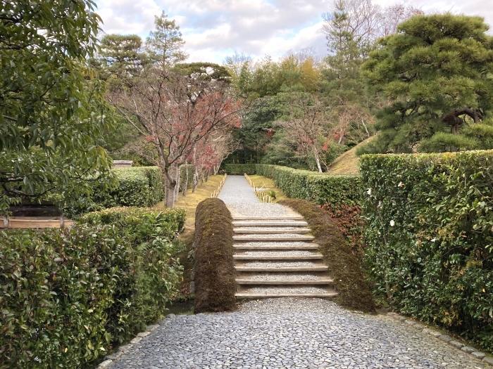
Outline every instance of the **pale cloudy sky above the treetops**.
{"type": "MultiPolygon", "coordinates": [[[[425,13],[481,15],[493,25],[490,1],[407,0],[406,4],[425,13]]],[[[401,2],[374,0],[381,6],[401,2]]],[[[104,32],[139,34],[143,39],[154,26],[154,15],[166,11],[181,27],[190,61],[222,63],[235,52],[279,58],[311,48],[323,55],[321,15],[330,11],[333,0],[96,0],[96,4],[104,32]]]]}

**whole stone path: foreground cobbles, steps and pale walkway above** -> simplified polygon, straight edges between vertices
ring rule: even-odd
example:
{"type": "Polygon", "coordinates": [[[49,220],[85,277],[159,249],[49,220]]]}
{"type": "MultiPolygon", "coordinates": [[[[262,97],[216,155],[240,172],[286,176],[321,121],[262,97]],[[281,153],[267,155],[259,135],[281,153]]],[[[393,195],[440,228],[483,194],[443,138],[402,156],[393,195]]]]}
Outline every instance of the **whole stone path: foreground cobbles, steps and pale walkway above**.
{"type": "MultiPolygon", "coordinates": [[[[240,297],[335,293],[316,245],[299,239],[309,235],[299,214],[259,202],[241,176],[227,177],[219,197],[235,219],[240,297]]],[[[170,314],[121,351],[106,368],[486,368],[412,321],[316,297],[249,300],[232,313],[170,314]]]]}

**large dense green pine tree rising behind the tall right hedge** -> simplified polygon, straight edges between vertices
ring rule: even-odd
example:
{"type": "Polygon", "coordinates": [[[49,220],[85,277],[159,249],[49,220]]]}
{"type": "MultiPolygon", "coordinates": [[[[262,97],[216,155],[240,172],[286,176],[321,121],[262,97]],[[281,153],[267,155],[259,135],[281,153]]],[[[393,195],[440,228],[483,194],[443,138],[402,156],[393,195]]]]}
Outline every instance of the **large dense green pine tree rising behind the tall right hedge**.
{"type": "Polygon", "coordinates": [[[417,15],[381,39],[363,67],[390,104],[377,115],[379,138],[363,152],[482,147],[492,113],[493,39],[479,17],[417,15]],[[478,125],[482,124],[482,125],[478,125]]]}

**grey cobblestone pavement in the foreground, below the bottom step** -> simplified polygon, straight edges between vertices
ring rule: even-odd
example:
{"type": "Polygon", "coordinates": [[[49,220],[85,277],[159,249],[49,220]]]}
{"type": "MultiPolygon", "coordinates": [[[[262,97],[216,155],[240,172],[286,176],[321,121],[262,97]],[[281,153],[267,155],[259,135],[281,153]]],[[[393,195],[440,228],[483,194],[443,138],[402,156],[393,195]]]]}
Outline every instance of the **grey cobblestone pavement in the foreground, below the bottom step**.
{"type": "Polygon", "coordinates": [[[266,299],[234,313],[168,317],[111,368],[485,367],[386,316],[323,299],[266,299]]]}

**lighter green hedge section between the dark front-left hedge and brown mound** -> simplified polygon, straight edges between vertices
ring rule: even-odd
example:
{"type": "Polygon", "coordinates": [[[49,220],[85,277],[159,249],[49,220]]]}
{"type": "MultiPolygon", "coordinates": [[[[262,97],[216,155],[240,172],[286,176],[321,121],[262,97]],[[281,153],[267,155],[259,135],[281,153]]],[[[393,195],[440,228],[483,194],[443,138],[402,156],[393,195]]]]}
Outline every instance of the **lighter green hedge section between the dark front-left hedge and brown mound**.
{"type": "Polygon", "coordinates": [[[117,285],[106,327],[113,340],[124,342],[162,316],[178,292],[181,244],[175,238],[185,224],[185,211],[111,208],[85,214],[78,222],[111,224],[129,242],[130,264],[119,266],[126,281],[117,285]]]}

